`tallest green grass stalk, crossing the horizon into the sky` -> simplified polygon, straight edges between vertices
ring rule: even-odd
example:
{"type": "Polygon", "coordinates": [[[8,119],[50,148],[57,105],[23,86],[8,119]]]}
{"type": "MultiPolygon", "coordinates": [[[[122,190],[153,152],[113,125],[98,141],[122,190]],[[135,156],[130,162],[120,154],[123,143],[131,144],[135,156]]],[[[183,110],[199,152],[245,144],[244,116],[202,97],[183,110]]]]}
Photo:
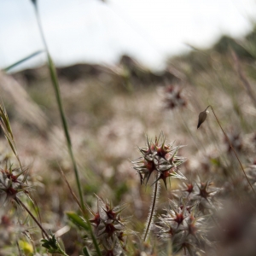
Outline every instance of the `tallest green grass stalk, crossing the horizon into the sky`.
{"type": "Polygon", "coordinates": [[[45,38],[44,38],[44,32],[43,32],[43,28],[42,28],[39,13],[38,13],[37,2],[33,1],[32,3],[35,7],[36,17],[37,17],[37,21],[38,21],[38,29],[39,29],[41,38],[43,40],[44,48],[45,48],[46,54],[47,54],[50,78],[51,78],[51,81],[52,81],[52,84],[53,84],[53,87],[54,87],[54,90],[55,90],[55,97],[56,97],[58,108],[59,108],[59,111],[60,111],[60,114],[61,114],[61,122],[62,122],[63,130],[64,130],[64,133],[65,133],[65,137],[66,137],[66,140],[67,140],[68,153],[69,153],[69,155],[71,157],[71,160],[72,160],[72,163],[73,163],[73,170],[74,170],[75,177],[76,177],[77,187],[79,189],[80,205],[83,209],[83,212],[85,213],[83,193],[82,193],[82,188],[81,188],[81,184],[80,184],[80,180],[79,180],[79,170],[78,170],[77,163],[76,163],[76,160],[75,160],[74,155],[73,155],[73,148],[72,148],[71,138],[70,138],[69,130],[68,130],[68,126],[67,126],[67,119],[66,119],[66,115],[64,113],[64,108],[63,108],[63,104],[62,104],[62,100],[61,100],[60,85],[59,85],[55,65],[54,65],[54,62],[52,61],[52,59],[49,55],[49,49],[48,49],[48,46],[47,46],[45,38]]]}

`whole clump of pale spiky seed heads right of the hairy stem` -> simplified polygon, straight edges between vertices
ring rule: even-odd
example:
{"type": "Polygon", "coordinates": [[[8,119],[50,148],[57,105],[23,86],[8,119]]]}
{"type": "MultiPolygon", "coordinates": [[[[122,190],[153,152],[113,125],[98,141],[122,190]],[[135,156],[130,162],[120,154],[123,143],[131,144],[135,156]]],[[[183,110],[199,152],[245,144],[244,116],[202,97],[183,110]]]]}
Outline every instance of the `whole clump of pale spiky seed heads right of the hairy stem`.
{"type": "MultiPolygon", "coordinates": [[[[214,195],[219,189],[210,188],[212,183],[184,183],[182,195],[169,202],[165,214],[155,224],[161,241],[171,241],[173,253],[183,250],[195,255],[203,247],[211,245],[208,233],[212,226],[212,214],[217,209],[214,195]]],[[[187,254],[186,254],[187,255],[187,254]]]]}

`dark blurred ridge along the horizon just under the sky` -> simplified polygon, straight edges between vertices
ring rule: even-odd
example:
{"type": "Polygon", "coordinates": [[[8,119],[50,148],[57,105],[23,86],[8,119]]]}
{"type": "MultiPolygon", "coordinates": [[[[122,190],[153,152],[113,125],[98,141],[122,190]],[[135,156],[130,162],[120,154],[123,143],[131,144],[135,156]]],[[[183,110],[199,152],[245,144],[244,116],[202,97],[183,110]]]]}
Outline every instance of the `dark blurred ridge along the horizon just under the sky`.
{"type": "MultiPolygon", "coordinates": [[[[212,52],[220,55],[226,55],[233,50],[241,59],[253,61],[256,58],[256,26],[253,32],[249,33],[245,38],[240,40],[223,36],[218,40],[211,49],[192,49],[188,54],[179,55],[170,58],[167,63],[185,61],[190,64],[193,69],[201,70],[210,67],[211,60],[208,55],[212,52]]],[[[192,47],[193,48],[193,47],[192,47]]],[[[114,67],[107,67],[97,64],[80,63],[69,67],[58,67],[57,73],[60,79],[67,79],[73,82],[78,79],[87,79],[91,77],[103,77],[104,75],[129,80],[132,83],[140,82],[140,84],[164,83],[179,78],[179,74],[172,68],[167,68],[160,73],[154,73],[148,68],[143,67],[135,59],[129,55],[121,56],[119,64],[114,67]]],[[[14,74],[15,77],[26,79],[28,83],[37,79],[44,79],[48,76],[45,67],[35,69],[26,69],[14,74]]]]}

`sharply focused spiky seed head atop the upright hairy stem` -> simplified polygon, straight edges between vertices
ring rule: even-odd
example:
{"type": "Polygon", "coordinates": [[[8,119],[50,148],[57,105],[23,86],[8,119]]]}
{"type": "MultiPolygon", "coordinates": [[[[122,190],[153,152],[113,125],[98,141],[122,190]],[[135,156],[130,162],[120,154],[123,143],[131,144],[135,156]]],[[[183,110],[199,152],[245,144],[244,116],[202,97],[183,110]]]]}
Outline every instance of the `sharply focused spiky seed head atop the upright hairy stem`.
{"type": "Polygon", "coordinates": [[[147,137],[147,144],[147,147],[139,148],[142,156],[132,161],[141,183],[147,184],[153,172],[156,174],[155,182],[162,179],[165,186],[169,177],[185,178],[178,172],[178,166],[185,161],[183,157],[177,156],[180,146],[174,147],[173,144],[166,144],[163,133],[160,134],[160,137],[155,137],[154,143],[147,137]]]}

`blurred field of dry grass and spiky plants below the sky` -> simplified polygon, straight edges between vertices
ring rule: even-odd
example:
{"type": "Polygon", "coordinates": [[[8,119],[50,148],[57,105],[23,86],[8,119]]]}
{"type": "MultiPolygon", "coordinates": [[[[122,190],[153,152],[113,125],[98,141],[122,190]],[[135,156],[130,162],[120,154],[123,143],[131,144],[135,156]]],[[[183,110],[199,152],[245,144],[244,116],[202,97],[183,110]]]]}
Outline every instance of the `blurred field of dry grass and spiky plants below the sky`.
{"type": "Polygon", "coordinates": [[[0,73],[17,150],[3,111],[0,255],[49,255],[49,230],[62,255],[255,255],[255,49],[252,32],[172,58],[163,73],[128,56],[58,68],[85,212],[48,68],[0,73]]]}

